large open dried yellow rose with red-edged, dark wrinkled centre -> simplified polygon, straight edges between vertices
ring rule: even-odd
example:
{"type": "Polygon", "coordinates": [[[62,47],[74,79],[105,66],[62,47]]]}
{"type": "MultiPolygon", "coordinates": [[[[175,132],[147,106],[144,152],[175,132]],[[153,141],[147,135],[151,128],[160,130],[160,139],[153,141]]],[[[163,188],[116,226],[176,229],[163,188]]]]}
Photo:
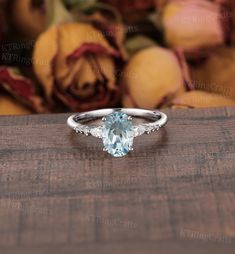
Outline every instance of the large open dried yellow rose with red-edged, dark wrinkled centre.
{"type": "Polygon", "coordinates": [[[117,67],[122,63],[112,45],[90,24],[54,26],[36,42],[34,70],[49,101],[59,99],[73,111],[115,106],[119,101],[117,67]]]}

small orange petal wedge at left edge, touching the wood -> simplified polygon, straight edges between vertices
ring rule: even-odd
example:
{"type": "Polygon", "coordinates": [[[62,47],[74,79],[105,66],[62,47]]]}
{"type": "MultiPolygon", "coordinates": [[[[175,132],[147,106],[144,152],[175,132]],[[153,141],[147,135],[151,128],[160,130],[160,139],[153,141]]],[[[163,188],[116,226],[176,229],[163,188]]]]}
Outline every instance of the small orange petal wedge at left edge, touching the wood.
{"type": "Polygon", "coordinates": [[[31,113],[32,111],[10,96],[0,95],[0,115],[28,115],[31,113]]]}

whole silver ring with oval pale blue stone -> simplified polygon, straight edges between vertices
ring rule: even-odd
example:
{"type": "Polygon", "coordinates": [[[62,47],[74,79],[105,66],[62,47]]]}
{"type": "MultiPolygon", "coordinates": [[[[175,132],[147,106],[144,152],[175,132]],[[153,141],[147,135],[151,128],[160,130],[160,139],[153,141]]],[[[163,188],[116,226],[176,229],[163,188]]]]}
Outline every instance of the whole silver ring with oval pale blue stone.
{"type": "Polygon", "coordinates": [[[127,155],[133,150],[134,138],[157,131],[166,123],[167,115],[160,111],[132,108],[94,110],[72,115],[67,120],[68,126],[77,133],[102,139],[103,150],[114,157],[127,155]],[[145,122],[134,124],[138,118],[145,122]],[[89,124],[99,119],[102,124],[89,124]]]}

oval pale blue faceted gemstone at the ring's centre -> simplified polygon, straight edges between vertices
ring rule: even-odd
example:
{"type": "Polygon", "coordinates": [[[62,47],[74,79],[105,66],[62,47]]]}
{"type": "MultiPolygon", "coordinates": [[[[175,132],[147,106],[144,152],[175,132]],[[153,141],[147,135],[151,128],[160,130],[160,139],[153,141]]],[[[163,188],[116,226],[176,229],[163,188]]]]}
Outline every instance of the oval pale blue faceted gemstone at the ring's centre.
{"type": "Polygon", "coordinates": [[[114,157],[125,156],[132,148],[133,124],[128,115],[114,112],[105,117],[102,130],[104,149],[114,157]]]}

